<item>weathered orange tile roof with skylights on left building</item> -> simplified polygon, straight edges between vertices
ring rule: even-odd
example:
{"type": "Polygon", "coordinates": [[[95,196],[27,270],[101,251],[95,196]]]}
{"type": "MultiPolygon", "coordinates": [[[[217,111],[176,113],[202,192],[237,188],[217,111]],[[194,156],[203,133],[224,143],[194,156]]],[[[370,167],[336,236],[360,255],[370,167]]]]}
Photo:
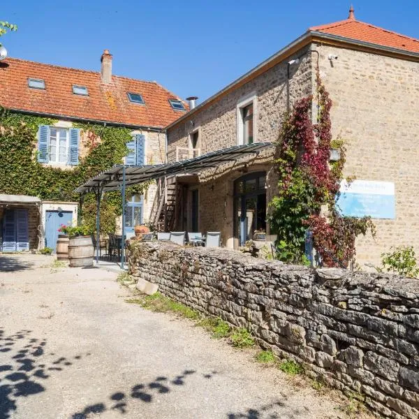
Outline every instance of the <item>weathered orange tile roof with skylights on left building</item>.
{"type": "MultiPolygon", "coordinates": [[[[168,99],[179,99],[156,82],[112,75],[103,84],[101,74],[8,58],[0,62],[0,105],[3,108],[94,119],[118,124],[163,127],[182,116],[168,99]],[[28,78],[45,80],[45,90],[28,87],[28,78]],[[73,94],[72,86],[87,87],[89,96],[73,94]],[[127,92],[142,95],[145,105],[131,103],[127,92]]],[[[184,103],[188,109],[186,103],[184,103]]]]}

